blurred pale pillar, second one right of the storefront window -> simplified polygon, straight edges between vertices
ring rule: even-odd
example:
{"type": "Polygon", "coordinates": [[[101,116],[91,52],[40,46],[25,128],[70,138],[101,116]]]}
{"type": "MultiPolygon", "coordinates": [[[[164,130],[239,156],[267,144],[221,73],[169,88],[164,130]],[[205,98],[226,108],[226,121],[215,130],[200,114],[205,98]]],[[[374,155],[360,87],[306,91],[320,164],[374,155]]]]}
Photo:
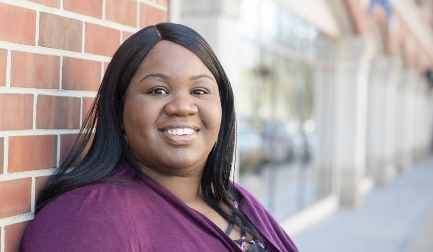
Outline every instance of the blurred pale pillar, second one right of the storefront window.
{"type": "Polygon", "coordinates": [[[396,173],[396,91],[400,61],[380,56],[372,63],[369,99],[368,164],[377,185],[396,173]]]}

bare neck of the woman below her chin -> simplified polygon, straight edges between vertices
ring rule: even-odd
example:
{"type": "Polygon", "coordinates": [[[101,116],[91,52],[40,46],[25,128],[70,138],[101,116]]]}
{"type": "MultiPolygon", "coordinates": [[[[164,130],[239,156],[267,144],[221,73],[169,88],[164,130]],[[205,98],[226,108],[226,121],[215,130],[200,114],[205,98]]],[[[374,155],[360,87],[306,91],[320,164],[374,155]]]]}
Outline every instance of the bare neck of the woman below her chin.
{"type": "Polygon", "coordinates": [[[185,175],[171,175],[155,171],[145,165],[140,165],[140,168],[146,176],[169,190],[186,205],[194,205],[203,201],[200,190],[203,169],[185,175]]]}

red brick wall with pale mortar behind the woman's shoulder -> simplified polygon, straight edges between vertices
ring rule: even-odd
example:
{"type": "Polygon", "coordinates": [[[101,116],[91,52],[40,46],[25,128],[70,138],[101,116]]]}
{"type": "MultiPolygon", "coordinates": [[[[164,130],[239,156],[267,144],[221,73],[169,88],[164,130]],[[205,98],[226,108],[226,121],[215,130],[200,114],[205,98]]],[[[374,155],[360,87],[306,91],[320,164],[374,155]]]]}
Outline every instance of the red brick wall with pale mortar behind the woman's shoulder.
{"type": "Polygon", "coordinates": [[[113,53],[167,10],[167,0],[0,0],[0,252],[18,251],[113,53]]]}

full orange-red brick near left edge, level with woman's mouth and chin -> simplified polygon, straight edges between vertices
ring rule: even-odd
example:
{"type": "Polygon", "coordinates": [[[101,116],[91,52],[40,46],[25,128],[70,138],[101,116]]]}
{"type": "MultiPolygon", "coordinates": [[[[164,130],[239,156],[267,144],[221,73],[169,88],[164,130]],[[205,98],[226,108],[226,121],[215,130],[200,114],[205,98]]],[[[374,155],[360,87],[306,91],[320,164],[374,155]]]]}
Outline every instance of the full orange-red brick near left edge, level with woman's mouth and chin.
{"type": "Polygon", "coordinates": [[[9,137],[8,172],[56,167],[57,135],[9,137]]]}

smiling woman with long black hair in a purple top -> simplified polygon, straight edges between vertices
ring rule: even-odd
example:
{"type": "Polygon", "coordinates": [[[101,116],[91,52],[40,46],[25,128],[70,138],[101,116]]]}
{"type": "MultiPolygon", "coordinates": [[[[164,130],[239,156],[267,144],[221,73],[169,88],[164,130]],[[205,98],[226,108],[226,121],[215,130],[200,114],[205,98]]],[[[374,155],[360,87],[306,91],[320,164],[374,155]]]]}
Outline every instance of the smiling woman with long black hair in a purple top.
{"type": "Polygon", "coordinates": [[[197,32],[135,33],[41,191],[22,251],[297,251],[229,180],[235,118],[227,76],[197,32]]]}

